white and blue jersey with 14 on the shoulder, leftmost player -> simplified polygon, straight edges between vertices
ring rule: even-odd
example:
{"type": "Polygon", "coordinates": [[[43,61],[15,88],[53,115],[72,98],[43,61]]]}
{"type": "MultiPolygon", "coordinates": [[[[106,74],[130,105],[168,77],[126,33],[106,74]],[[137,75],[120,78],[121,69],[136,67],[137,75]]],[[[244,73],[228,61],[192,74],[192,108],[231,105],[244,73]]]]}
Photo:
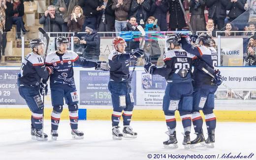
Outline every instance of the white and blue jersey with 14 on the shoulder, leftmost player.
{"type": "Polygon", "coordinates": [[[29,53],[22,62],[18,86],[39,86],[41,80],[46,80],[48,76],[49,72],[44,67],[42,56],[36,53],[29,53]]]}

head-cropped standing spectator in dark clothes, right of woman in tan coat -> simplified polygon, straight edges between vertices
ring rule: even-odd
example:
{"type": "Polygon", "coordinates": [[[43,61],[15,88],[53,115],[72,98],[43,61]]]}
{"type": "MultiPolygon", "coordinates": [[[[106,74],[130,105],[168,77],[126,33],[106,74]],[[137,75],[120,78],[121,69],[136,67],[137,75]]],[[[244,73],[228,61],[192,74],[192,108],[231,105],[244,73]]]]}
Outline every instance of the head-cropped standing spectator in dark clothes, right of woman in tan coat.
{"type": "Polygon", "coordinates": [[[99,0],[79,0],[79,5],[83,8],[84,15],[85,15],[85,22],[83,25],[83,30],[85,27],[93,25],[94,28],[97,27],[97,16],[99,11],[101,10],[100,6],[101,3],[99,0]]]}

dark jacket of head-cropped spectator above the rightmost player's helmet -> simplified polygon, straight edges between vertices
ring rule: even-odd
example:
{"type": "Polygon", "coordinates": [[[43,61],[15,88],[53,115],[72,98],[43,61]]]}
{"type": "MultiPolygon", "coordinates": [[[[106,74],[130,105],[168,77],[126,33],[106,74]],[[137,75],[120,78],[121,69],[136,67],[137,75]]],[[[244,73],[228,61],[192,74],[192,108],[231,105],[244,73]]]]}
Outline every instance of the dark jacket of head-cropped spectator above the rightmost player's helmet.
{"type": "Polygon", "coordinates": [[[213,18],[216,12],[216,18],[224,19],[226,17],[226,6],[229,0],[206,0],[206,6],[209,8],[208,17],[213,18]]]}

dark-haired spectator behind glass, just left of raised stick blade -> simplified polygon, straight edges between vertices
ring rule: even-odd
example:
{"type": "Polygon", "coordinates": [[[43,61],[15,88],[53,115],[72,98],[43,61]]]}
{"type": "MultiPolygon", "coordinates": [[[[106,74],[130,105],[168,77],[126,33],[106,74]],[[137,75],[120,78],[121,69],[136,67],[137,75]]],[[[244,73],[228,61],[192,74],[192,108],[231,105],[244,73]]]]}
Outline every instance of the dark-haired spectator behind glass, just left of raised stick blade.
{"type": "MultiPolygon", "coordinates": [[[[138,31],[137,29],[137,21],[135,17],[130,17],[128,23],[126,24],[126,28],[124,31],[138,31]]],[[[127,41],[126,53],[130,53],[130,50],[139,48],[139,39],[134,39],[133,33],[131,33],[130,39],[127,41]]],[[[131,62],[133,59],[131,59],[131,62]]]]}

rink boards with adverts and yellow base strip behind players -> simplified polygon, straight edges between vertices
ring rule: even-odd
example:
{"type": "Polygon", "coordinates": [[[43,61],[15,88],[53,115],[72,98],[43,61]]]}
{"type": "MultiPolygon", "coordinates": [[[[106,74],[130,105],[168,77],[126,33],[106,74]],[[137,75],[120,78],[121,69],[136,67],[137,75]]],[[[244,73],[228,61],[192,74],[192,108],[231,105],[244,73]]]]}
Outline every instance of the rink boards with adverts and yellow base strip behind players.
{"type": "MultiPolygon", "coordinates": [[[[130,68],[132,70],[132,68],[130,68]]],[[[151,76],[137,67],[131,86],[134,94],[133,120],[163,121],[161,110],[166,81],[160,76],[151,76]]],[[[222,67],[224,83],[247,96],[240,100],[223,85],[216,92],[215,114],[218,121],[256,122],[256,68],[222,67]]],[[[16,84],[18,67],[0,67],[0,119],[29,119],[30,111],[18,93],[16,84]]],[[[111,94],[107,85],[109,72],[74,68],[79,107],[87,109],[87,120],[110,120],[112,114],[111,94]]],[[[45,97],[45,118],[50,117],[50,88],[45,97]]],[[[67,108],[64,106],[64,108],[67,108]]],[[[68,119],[64,110],[62,119],[68,119]]],[[[180,120],[177,117],[178,120],[180,120]]]]}

